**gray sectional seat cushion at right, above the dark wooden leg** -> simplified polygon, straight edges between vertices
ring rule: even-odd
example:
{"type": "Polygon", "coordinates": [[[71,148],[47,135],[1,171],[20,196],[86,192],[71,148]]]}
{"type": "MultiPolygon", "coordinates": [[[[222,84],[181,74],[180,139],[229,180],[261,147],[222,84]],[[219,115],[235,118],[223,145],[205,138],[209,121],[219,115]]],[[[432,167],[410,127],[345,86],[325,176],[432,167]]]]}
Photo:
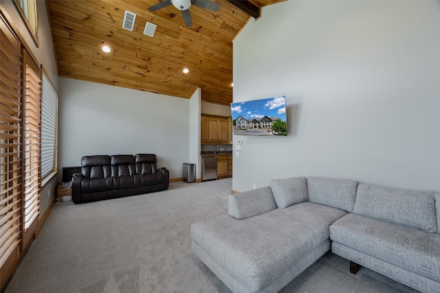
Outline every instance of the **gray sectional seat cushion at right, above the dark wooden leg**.
{"type": "Polygon", "coordinates": [[[350,213],[330,226],[330,239],[440,282],[440,235],[350,213]]]}

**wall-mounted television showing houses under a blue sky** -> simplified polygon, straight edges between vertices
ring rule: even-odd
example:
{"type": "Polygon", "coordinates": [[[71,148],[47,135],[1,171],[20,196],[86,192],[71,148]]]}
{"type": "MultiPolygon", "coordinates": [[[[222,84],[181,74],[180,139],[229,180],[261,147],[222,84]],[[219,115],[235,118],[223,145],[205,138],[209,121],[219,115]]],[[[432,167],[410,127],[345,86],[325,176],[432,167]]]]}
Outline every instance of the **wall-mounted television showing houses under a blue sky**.
{"type": "Polygon", "coordinates": [[[286,97],[232,102],[234,135],[287,135],[286,97]]]}

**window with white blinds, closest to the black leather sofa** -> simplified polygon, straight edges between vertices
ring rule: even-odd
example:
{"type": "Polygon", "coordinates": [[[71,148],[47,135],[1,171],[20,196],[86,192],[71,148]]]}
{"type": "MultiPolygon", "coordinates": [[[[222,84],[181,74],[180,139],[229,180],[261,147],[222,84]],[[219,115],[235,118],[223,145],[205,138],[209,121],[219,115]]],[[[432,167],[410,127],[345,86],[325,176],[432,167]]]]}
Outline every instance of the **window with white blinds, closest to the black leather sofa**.
{"type": "Polygon", "coordinates": [[[56,113],[58,95],[43,72],[41,97],[41,177],[56,169],[56,113]]]}

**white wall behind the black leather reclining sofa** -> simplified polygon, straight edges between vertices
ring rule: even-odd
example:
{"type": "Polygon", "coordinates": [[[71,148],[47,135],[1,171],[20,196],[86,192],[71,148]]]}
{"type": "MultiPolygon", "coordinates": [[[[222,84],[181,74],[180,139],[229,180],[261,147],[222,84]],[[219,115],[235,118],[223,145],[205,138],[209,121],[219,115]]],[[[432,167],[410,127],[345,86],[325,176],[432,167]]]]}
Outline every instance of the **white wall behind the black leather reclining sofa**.
{"type": "Polygon", "coordinates": [[[182,176],[190,100],[70,78],[60,78],[60,88],[60,170],[83,155],[155,153],[170,178],[182,176]]]}

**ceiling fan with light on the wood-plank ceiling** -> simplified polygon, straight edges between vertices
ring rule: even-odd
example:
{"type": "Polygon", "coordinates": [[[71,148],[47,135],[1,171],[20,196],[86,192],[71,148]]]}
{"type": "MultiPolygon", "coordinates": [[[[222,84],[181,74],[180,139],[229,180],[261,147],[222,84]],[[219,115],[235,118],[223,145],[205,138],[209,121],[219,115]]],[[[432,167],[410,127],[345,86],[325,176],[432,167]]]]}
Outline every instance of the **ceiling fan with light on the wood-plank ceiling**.
{"type": "Polygon", "coordinates": [[[151,7],[148,8],[150,11],[156,11],[162,8],[165,8],[166,6],[170,6],[173,4],[175,8],[178,10],[181,10],[181,16],[184,18],[186,26],[192,25],[192,19],[190,14],[190,6],[191,4],[194,4],[195,6],[199,6],[200,8],[205,8],[209,10],[219,11],[220,5],[217,3],[214,3],[209,0],[164,0],[162,2],[159,2],[151,7]]]}

